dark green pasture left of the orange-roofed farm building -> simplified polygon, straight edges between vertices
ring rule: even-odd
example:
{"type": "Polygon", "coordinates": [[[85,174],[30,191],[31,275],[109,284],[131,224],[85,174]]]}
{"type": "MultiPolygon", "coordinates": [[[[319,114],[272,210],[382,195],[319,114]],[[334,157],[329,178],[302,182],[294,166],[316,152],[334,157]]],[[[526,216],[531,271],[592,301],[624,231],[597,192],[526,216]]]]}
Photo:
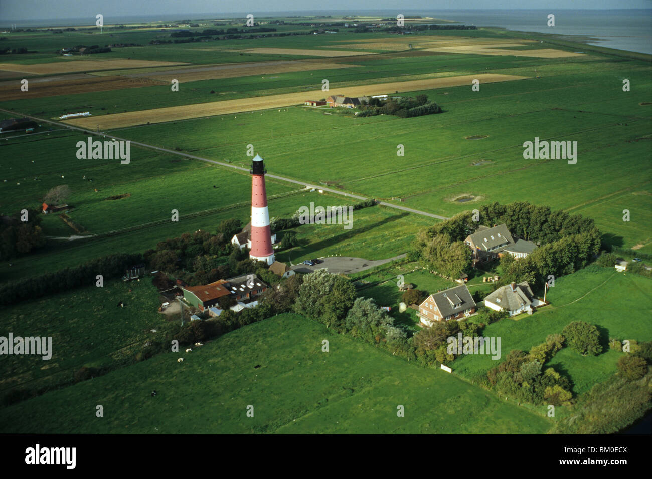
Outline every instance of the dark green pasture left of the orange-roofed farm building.
{"type": "Polygon", "coordinates": [[[113,369],[130,364],[149,340],[160,340],[179,325],[157,311],[158,290],[150,278],[110,281],[80,287],[3,310],[3,336],[52,337],[52,358],[7,356],[2,362],[0,393],[19,387],[38,389],[71,381],[82,366],[113,369]],[[124,307],[117,303],[123,302],[124,307]],[[155,329],[156,332],[151,330],[155,329]]]}

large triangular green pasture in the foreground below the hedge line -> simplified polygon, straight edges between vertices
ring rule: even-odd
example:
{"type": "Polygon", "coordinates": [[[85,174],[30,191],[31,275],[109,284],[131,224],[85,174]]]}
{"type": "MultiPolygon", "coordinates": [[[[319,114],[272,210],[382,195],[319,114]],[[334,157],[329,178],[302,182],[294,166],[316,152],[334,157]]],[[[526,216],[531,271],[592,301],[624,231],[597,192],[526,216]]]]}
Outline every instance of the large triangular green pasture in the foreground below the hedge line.
{"type": "Polygon", "coordinates": [[[550,424],[292,314],[0,411],[7,433],[544,433],[550,424]]]}

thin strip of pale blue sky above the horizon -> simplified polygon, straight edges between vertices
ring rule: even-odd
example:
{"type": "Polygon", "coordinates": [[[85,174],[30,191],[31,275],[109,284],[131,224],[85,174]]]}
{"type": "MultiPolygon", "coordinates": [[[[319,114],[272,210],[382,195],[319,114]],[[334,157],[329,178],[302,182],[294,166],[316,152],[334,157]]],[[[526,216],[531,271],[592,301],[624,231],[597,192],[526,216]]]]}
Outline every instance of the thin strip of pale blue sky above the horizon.
{"type": "Polygon", "coordinates": [[[652,0],[0,0],[1,20],[95,18],[160,14],[287,12],[306,10],[477,10],[522,8],[652,8],[652,0]]]}

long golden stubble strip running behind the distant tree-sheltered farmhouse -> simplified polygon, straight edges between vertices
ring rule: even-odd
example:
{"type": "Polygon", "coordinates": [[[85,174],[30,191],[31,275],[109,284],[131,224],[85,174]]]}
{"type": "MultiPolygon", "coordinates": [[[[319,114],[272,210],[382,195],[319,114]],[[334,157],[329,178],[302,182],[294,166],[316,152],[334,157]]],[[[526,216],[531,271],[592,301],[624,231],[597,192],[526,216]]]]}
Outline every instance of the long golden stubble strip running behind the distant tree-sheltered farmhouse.
{"type": "MultiPolygon", "coordinates": [[[[479,74],[451,76],[447,78],[429,78],[427,80],[394,81],[392,83],[374,83],[356,87],[338,87],[331,83],[331,91],[342,89],[342,93],[349,96],[362,96],[392,93],[394,91],[420,91],[437,88],[459,87],[471,85],[471,80],[477,78],[481,83],[494,83],[496,81],[524,80],[526,76],[479,74]],[[346,88],[346,92],[344,89],[346,88]]],[[[241,111],[254,111],[259,109],[280,108],[283,106],[301,104],[311,96],[321,98],[324,93],[321,89],[310,90],[303,93],[276,94],[263,97],[240,98],[238,100],[224,100],[222,102],[209,102],[194,105],[173,106],[169,108],[148,109],[143,111],[128,111],[115,115],[104,115],[93,118],[79,118],[65,123],[81,126],[82,128],[95,129],[98,125],[102,130],[124,128],[143,123],[160,123],[163,121],[185,120],[213,115],[226,115],[241,111]]]]}

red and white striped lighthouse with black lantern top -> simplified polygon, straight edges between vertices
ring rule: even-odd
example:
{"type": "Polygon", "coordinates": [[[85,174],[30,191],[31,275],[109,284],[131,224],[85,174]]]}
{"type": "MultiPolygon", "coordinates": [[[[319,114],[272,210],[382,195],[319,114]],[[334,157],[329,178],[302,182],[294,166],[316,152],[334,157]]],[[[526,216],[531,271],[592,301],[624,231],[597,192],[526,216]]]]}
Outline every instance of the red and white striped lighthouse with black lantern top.
{"type": "Polygon", "coordinates": [[[251,250],[249,257],[274,263],[272,232],[269,227],[267,191],[265,190],[265,165],[263,158],[256,155],[251,167],[251,250]]]}

